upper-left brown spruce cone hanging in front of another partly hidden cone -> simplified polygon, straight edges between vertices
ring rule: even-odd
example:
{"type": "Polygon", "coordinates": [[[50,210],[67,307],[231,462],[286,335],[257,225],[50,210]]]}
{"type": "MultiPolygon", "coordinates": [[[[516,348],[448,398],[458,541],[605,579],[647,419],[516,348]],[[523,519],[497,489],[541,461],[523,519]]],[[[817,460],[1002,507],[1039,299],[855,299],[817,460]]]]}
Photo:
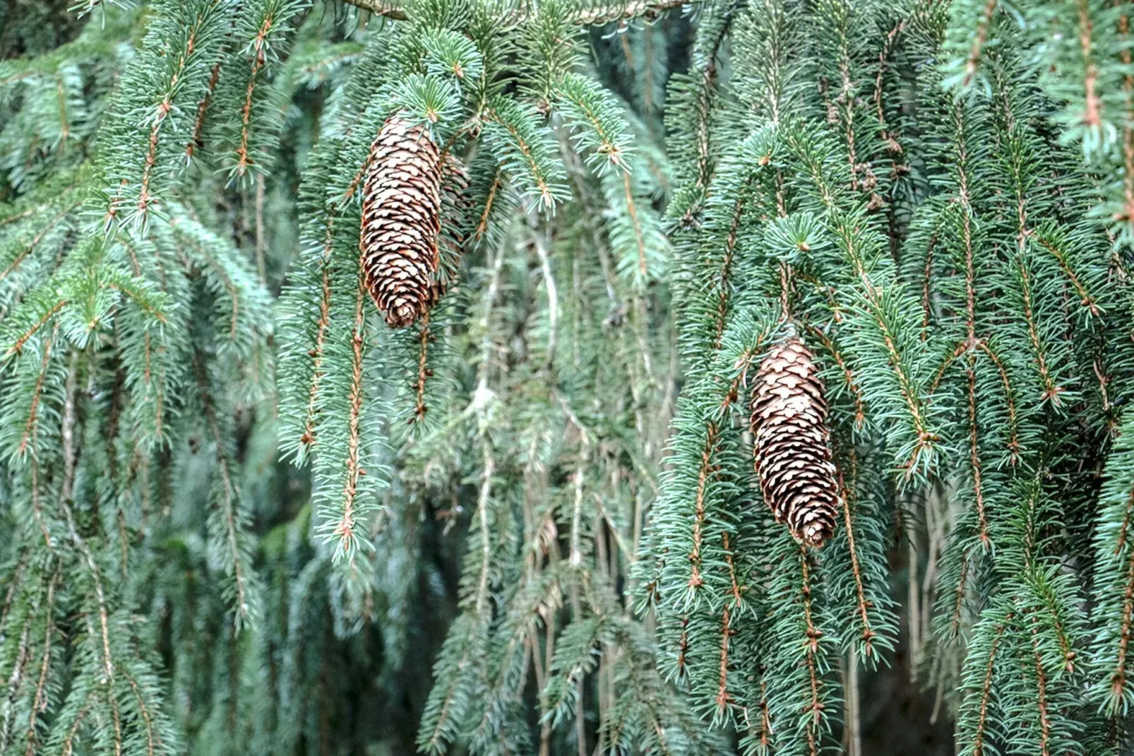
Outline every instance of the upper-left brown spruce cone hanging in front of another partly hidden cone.
{"type": "Polygon", "coordinates": [[[395,115],[370,149],[362,202],[366,288],[392,328],[437,301],[441,153],[420,126],[395,115]]]}

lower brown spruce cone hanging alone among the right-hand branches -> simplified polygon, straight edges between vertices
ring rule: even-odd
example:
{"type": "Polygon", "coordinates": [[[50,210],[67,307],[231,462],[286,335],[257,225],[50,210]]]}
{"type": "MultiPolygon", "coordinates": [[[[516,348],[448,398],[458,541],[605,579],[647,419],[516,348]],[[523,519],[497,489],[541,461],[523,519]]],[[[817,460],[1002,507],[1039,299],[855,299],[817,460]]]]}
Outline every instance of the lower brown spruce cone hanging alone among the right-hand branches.
{"type": "Polygon", "coordinates": [[[811,352],[799,338],[788,338],[756,372],[753,451],[764,502],[809,546],[831,537],[840,506],[826,420],[823,381],[811,352]]]}

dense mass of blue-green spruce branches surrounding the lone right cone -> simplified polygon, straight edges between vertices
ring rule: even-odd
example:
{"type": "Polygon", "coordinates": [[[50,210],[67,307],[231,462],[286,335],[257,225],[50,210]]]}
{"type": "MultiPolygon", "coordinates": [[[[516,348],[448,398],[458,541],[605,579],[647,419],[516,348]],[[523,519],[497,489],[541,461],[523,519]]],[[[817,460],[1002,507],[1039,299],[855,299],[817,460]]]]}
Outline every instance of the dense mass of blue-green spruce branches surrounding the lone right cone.
{"type": "Polygon", "coordinates": [[[845,655],[889,663],[903,583],[903,642],[958,749],[1116,747],[1125,216],[1094,220],[1110,179],[1067,145],[1122,176],[1125,106],[1090,87],[1122,86],[1124,12],[1001,6],[706,3],[671,92],[686,384],[641,593],[663,671],[745,753],[856,733],[845,655]],[[765,338],[726,355],[753,318],[765,338]],[[827,386],[844,511],[821,552],[767,522],[745,459],[744,371],[786,334],[827,386]]]}

